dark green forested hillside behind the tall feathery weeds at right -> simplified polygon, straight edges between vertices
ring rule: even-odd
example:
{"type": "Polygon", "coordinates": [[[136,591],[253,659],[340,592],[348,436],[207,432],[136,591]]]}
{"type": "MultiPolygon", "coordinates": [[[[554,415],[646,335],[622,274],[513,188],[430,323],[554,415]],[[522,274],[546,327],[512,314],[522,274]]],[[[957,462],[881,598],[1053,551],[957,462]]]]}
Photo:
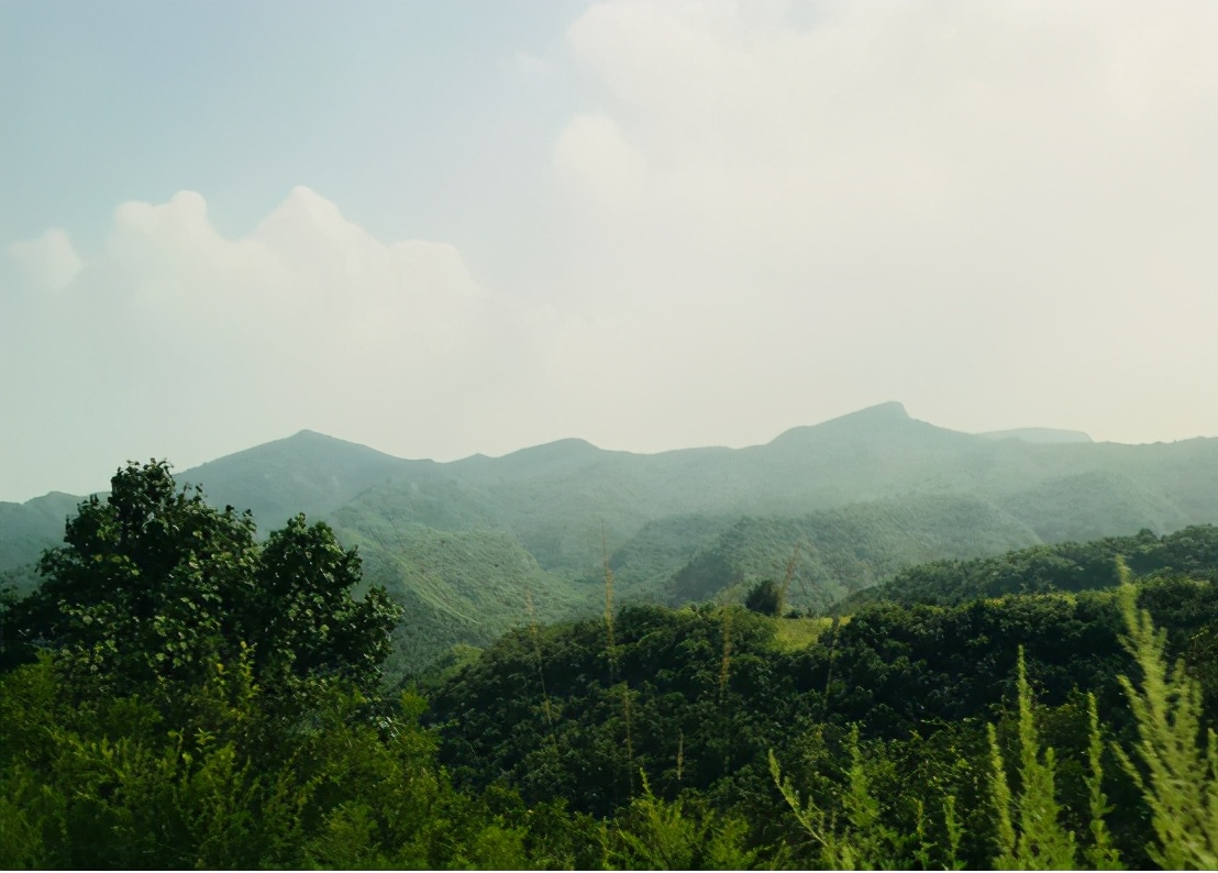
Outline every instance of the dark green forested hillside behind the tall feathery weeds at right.
{"type": "MultiPolygon", "coordinates": [[[[1168,628],[1172,656],[1200,677],[1203,720],[1214,724],[1218,589],[1157,583],[1139,599],[1168,628]]],[[[660,796],[694,794],[739,815],[750,845],[801,843],[775,791],[771,752],[816,798],[827,828],[834,815],[851,815],[851,766],[861,766],[872,827],[892,840],[893,855],[872,862],[920,866],[911,838],[926,828],[938,851],[921,863],[949,863],[939,851],[950,795],[963,834],[957,860],[987,867],[998,833],[985,726],[999,727],[1004,755],[1018,760],[1010,720],[1022,647],[1039,729],[1061,761],[1061,821],[1083,843],[1086,693],[1108,735],[1136,737],[1118,682],[1135,671],[1119,642],[1118,597],[877,605],[794,649],[786,623],[734,606],[632,608],[615,616],[613,650],[604,622],[519,631],[429,688],[443,726],[441,760],[458,784],[505,779],[526,801],[561,796],[598,816],[637,795],[646,774],[660,796]],[[851,743],[861,763],[851,765],[851,743]]],[[[1107,827],[1125,863],[1146,863],[1147,811],[1118,768],[1108,779],[1117,810],[1107,827]]]]}

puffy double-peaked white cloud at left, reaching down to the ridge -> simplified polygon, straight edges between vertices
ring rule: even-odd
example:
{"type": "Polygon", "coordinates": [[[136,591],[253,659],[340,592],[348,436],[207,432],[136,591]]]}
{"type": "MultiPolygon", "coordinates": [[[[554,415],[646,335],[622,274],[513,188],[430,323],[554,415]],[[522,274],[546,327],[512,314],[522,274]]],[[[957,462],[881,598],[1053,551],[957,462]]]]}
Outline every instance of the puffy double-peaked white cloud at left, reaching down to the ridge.
{"type": "MultiPolygon", "coordinates": [[[[46,273],[65,252],[55,231],[13,254],[46,273]]],[[[238,240],[191,191],[123,203],[77,272],[54,300],[18,291],[21,328],[0,343],[6,457],[62,441],[54,487],[301,427],[414,457],[509,451],[520,443],[486,438],[486,415],[527,407],[507,386],[544,381],[533,337],[552,326],[484,290],[457,248],[382,244],[306,188],[238,240]]],[[[41,489],[48,475],[6,464],[0,489],[41,489]]]]}

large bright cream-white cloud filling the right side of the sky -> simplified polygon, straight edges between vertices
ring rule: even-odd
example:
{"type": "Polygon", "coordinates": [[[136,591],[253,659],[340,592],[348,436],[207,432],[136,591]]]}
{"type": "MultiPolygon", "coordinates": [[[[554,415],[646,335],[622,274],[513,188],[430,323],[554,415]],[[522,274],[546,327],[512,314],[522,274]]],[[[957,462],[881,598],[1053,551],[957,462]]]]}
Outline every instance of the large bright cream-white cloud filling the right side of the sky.
{"type": "MultiPolygon", "coordinates": [[[[670,396],[749,374],[723,404],[772,424],[726,441],[864,397],[1218,432],[1216,43],[1209,2],[597,4],[554,156],[580,304],[670,396]]],[[[654,408],[672,443],[709,415],[654,408]]]]}

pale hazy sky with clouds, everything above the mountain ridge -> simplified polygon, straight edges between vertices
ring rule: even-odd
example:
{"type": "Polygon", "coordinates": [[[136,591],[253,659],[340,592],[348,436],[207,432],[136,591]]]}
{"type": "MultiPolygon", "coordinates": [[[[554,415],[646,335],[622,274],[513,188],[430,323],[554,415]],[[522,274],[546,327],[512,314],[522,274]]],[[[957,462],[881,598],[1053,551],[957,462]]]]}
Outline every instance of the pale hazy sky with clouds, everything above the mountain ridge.
{"type": "Polygon", "coordinates": [[[1218,436],[1218,4],[0,0],[0,500],[309,429],[1218,436]]]}

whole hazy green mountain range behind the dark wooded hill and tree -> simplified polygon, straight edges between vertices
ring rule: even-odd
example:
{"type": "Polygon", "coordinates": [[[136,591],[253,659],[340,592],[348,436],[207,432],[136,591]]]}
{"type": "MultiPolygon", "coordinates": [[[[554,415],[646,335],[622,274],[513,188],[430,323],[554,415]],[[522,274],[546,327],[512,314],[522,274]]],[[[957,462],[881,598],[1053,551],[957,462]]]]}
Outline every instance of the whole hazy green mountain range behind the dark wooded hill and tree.
{"type": "MultiPolygon", "coordinates": [[[[887,403],[765,446],[641,455],[564,440],[502,458],[403,460],[303,431],[188,470],[263,530],[304,511],[357,544],[409,606],[403,664],[485,644],[533,616],[619,599],[739,599],[756,582],[823,609],[900,569],[1066,539],[1218,521],[1218,438],[1093,443],[1068,431],[968,435],[887,403]]],[[[74,498],[0,504],[18,587],[74,498]]]]}

